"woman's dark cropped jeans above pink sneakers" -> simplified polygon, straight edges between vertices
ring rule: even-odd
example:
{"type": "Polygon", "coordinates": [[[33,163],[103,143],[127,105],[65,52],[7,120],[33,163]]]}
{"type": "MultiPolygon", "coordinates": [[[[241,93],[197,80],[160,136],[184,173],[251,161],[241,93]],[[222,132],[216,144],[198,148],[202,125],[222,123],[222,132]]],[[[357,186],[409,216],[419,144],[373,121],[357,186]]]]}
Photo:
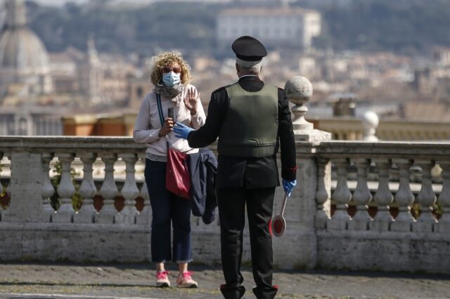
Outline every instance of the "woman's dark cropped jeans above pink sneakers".
{"type": "Polygon", "coordinates": [[[166,163],[146,159],[146,183],[152,206],[151,251],[154,263],[191,261],[191,201],[166,190],[166,163]],[[170,222],[174,230],[170,244],[170,222]]]}

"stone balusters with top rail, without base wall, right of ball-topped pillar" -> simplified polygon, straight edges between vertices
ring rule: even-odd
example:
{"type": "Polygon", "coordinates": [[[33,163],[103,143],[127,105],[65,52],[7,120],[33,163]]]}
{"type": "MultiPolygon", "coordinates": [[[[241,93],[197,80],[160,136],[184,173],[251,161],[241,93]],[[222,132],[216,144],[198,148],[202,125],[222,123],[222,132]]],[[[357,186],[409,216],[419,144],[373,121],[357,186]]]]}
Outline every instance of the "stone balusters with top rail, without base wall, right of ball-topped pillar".
{"type": "MultiPolygon", "coordinates": [[[[327,230],[374,230],[378,232],[450,232],[450,143],[442,142],[321,142],[315,154],[318,167],[319,206],[316,227],[327,230]],[[326,190],[325,168],[334,164],[337,184],[332,194],[326,190]],[[352,164],[357,169],[357,182],[353,194],[349,190],[347,169],[352,164]],[[369,166],[375,166],[378,181],[372,197],[369,191],[369,166]],[[420,167],[420,191],[417,197],[411,190],[411,167],[420,167]],[[442,184],[432,184],[432,168],[442,170],[442,184]],[[390,172],[398,172],[398,178],[390,180],[390,172]],[[394,188],[394,189],[392,189],[394,188]],[[437,197],[436,194],[439,194],[437,197]],[[329,199],[337,204],[333,217],[323,205],[329,199]],[[347,207],[356,204],[356,214],[350,218],[347,207]],[[375,218],[368,215],[368,204],[378,206],[375,218]],[[390,205],[395,201],[399,208],[397,218],[392,218],[390,205]],[[417,220],[411,215],[413,202],[420,205],[417,220]],[[442,206],[439,221],[432,211],[435,204],[442,206]]],[[[397,176],[397,175],[396,175],[397,176]]],[[[373,182],[372,182],[373,183],[373,182]]],[[[417,185],[417,183],[415,184],[417,185]]],[[[418,186],[414,186],[417,188],[418,186]]]]}

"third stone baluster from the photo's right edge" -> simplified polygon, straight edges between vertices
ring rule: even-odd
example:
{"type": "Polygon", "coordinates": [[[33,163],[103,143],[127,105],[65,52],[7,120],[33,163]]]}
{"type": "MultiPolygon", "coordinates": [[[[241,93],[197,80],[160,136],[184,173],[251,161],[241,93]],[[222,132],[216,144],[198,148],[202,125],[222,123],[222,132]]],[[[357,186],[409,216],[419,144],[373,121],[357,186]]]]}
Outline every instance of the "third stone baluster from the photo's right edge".
{"type": "Polygon", "coordinates": [[[409,186],[409,168],[412,161],[409,159],[394,159],[392,163],[397,164],[400,170],[399,190],[395,194],[394,200],[399,205],[399,215],[391,224],[391,230],[396,232],[411,232],[411,225],[415,221],[411,215],[411,204],[414,201],[414,194],[409,186]]]}

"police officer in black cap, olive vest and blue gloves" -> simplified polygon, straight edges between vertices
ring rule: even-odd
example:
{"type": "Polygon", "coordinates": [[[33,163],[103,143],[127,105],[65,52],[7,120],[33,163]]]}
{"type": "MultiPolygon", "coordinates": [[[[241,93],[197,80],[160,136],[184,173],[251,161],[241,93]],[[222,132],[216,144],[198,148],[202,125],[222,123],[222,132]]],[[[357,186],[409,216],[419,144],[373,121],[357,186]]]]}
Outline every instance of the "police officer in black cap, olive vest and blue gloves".
{"type": "Polygon", "coordinates": [[[190,147],[217,140],[217,204],[221,227],[221,260],[227,299],[241,298],[240,262],[243,253],[245,204],[250,228],[252,270],[257,298],[274,298],[272,286],[271,215],[279,185],[276,152],[281,147],[281,177],[285,192],[296,184],[295,140],[288,100],[283,89],[259,79],[266,48],[251,36],[233,42],[239,81],[211,95],[205,125],[194,131],[176,124],[177,137],[190,147]]]}

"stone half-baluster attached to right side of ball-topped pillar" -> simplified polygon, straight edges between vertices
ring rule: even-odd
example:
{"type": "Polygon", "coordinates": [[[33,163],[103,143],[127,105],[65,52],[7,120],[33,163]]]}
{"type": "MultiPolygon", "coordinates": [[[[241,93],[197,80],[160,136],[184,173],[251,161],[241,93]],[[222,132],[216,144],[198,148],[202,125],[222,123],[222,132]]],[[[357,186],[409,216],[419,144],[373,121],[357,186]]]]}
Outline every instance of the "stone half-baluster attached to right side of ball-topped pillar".
{"type": "Polygon", "coordinates": [[[330,171],[331,165],[328,159],[317,159],[317,191],[316,191],[316,228],[326,228],[326,222],[330,219],[330,171]]]}

